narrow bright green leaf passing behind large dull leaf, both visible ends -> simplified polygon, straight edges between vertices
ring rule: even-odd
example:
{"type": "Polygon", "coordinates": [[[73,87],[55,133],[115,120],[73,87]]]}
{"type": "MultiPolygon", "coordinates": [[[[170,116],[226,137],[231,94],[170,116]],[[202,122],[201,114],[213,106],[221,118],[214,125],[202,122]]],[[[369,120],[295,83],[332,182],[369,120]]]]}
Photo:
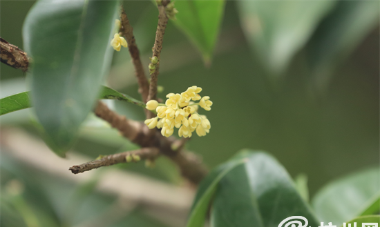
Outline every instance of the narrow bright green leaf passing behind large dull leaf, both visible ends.
{"type": "MultiPolygon", "coordinates": [[[[0,116],[5,115],[9,112],[14,112],[17,110],[23,110],[25,108],[32,107],[30,105],[29,95],[30,92],[21,92],[19,94],[11,95],[8,97],[4,97],[3,99],[0,99],[0,116]]],[[[100,93],[99,99],[117,99],[120,101],[133,103],[137,106],[145,108],[145,104],[142,101],[133,99],[129,95],[124,95],[106,86],[102,86],[102,92],[100,93]]]]}

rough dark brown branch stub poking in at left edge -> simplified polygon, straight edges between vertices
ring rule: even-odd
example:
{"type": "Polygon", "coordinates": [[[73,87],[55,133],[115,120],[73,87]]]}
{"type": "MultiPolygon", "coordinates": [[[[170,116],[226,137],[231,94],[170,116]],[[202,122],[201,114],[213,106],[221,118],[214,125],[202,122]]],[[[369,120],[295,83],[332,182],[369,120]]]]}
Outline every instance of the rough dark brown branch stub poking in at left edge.
{"type": "Polygon", "coordinates": [[[8,43],[0,37],[0,61],[6,65],[26,72],[29,66],[29,58],[26,52],[17,46],[8,43]]]}

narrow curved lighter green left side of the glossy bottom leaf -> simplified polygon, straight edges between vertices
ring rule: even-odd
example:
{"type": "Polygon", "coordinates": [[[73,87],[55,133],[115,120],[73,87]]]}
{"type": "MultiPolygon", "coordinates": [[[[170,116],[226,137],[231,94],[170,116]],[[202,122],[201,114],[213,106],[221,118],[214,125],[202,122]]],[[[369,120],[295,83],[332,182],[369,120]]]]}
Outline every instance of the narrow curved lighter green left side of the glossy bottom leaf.
{"type": "Polygon", "coordinates": [[[245,160],[242,159],[229,161],[227,164],[223,164],[213,170],[205,179],[203,179],[198,188],[196,198],[194,199],[187,227],[204,226],[207,208],[209,208],[211,197],[215,193],[218,182],[225,177],[228,172],[243,164],[244,161],[245,160]]]}

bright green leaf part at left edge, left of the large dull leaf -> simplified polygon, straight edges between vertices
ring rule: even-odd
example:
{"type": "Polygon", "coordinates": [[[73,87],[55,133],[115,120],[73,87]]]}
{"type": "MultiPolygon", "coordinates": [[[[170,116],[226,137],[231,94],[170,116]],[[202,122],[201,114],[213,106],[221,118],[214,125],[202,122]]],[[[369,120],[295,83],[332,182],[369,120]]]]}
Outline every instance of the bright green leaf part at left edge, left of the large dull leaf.
{"type": "Polygon", "coordinates": [[[0,116],[8,112],[30,108],[29,92],[21,92],[0,99],[0,116]]]}

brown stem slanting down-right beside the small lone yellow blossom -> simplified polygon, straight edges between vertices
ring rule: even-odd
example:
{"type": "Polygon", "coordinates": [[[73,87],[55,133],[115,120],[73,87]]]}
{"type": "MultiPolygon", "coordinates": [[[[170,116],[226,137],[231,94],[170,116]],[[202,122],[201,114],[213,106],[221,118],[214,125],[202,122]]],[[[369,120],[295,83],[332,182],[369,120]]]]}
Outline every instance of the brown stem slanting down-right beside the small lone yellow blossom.
{"type": "Polygon", "coordinates": [[[135,66],[135,73],[137,77],[137,82],[139,84],[139,92],[142,95],[142,101],[146,102],[149,95],[149,83],[145,77],[144,68],[142,67],[142,62],[140,59],[140,52],[137,48],[135,36],[133,35],[133,28],[129,23],[128,17],[124,8],[122,8],[122,14],[120,16],[121,28],[120,32],[125,37],[126,42],[128,43],[128,50],[131,54],[133,65],[135,66]]]}

